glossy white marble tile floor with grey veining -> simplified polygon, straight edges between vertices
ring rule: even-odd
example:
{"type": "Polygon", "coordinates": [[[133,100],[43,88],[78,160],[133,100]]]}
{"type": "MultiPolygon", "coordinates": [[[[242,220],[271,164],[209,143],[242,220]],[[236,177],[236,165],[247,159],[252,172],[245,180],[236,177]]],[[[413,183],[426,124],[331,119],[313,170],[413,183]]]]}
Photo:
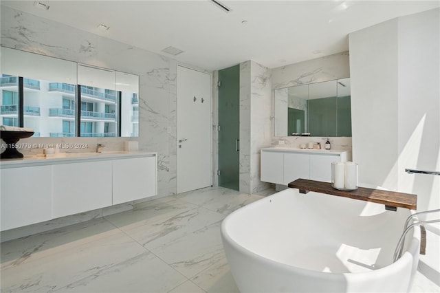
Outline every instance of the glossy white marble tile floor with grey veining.
{"type": "MultiPolygon", "coordinates": [[[[1,292],[239,292],[219,228],[247,195],[211,187],[1,243],[1,292]]],[[[411,292],[440,292],[417,274],[411,292]]]]}

